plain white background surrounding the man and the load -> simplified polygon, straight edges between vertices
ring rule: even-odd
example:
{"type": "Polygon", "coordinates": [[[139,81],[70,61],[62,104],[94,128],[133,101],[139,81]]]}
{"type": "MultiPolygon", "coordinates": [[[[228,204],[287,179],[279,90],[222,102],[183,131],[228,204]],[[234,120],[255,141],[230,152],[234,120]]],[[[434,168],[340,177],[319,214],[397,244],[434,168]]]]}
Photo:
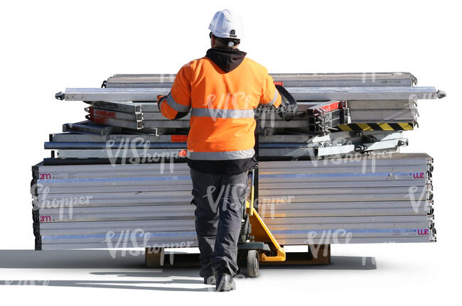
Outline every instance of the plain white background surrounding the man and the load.
{"type": "MultiPolygon", "coordinates": [[[[219,9],[241,14],[240,49],[269,72],[404,71],[417,76],[420,86],[448,94],[419,102],[419,129],[407,132],[409,147],[403,150],[434,158],[436,244],[333,246],[334,256],[375,257],[377,269],[262,270],[260,278],[238,281],[237,290],[224,295],[0,284],[1,304],[9,298],[47,305],[459,300],[462,27],[456,1],[2,1],[0,6],[0,249],[33,248],[31,165],[48,157],[43,150],[48,133],[84,119],[84,104],[55,100],[55,92],[99,87],[115,73],[176,73],[205,55],[208,23],[219,9]]],[[[76,269],[0,269],[0,279],[89,276],[76,269]]]]}

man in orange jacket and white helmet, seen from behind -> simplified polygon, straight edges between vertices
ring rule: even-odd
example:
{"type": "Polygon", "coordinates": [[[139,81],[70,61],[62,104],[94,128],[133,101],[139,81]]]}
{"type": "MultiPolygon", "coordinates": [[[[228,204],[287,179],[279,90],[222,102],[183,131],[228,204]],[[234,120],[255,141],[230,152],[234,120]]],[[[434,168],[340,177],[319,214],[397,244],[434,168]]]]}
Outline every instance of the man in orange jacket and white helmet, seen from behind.
{"type": "Polygon", "coordinates": [[[188,165],[193,180],[200,275],[216,290],[235,289],[237,241],[245,209],[247,173],[254,168],[254,109],[281,104],[268,71],[237,49],[242,21],[224,9],[213,16],[212,48],[181,67],[171,92],[159,96],[161,113],[190,111],[188,165]]]}

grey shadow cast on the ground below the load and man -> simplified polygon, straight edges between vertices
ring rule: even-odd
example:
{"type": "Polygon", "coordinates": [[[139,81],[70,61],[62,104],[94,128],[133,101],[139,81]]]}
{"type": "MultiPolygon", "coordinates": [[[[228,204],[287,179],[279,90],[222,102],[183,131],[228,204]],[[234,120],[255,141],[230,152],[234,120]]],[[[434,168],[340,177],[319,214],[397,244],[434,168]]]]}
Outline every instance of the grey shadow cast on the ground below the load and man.
{"type": "MultiPolygon", "coordinates": [[[[113,258],[107,250],[0,250],[2,269],[115,269],[113,272],[92,272],[90,275],[114,275],[121,280],[47,280],[43,285],[54,287],[118,288],[163,291],[209,291],[213,286],[204,285],[198,275],[198,267],[146,268],[144,253],[136,255],[117,253],[113,258]],[[124,271],[127,269],[127,271],[124,271]],[[145,269],[146,272],[129,271],[145,269]],[[146,278],[146,280],[131,280],[146,278]],[[156,286],[161,284],[163,286],[156,286]],[[171,286],[168,286],[171,284],[171,286]],[[200,288],[182,288],[178,285],[199,285],[200,288]]],[[[332,256],[330,265],[319,266],[261,266],[260,269],[294,270],[374,270],[375,258],[332,256]]],[[[42,285],[21,280],[0,280],[0,285],[42,285]]]]}

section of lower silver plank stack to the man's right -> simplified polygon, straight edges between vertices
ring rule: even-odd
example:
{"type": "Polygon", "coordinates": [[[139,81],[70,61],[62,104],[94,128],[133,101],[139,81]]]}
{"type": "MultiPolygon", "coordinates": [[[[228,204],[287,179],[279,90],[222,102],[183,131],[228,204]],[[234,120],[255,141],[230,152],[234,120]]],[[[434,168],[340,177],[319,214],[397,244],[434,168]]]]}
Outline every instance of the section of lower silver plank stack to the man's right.
{"type": "Polygon", "coordinates": [[[283,245],[436,241],[432,170],[426,154],[265,162],[259,213],[283,245]]]}

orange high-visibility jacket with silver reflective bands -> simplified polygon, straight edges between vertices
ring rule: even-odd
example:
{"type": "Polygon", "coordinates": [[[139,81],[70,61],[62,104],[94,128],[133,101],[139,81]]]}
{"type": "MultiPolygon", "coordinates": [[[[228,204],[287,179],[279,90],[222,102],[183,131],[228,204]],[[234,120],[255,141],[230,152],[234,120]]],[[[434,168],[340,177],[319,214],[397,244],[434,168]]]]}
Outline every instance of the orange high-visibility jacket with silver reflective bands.
{"type": "Polygon", "coordinates": [[[229,72],[208,57],[193,60],[181,67],[170,94],[158,99],[159,109],[168,119],[191,111],[190,160],[252,158],[254,109],[281,104],[267,69],[248,58],[229,72]]]}

